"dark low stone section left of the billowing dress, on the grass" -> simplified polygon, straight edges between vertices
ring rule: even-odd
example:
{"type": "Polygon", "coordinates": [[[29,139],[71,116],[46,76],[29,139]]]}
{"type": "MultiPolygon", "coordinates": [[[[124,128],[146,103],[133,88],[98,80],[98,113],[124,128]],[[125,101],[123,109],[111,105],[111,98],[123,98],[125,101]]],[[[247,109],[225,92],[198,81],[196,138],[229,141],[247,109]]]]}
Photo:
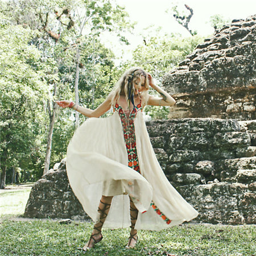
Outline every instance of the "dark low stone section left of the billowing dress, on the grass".
{"type": "MultiPolygon", "coordinates": [[[[65,167],[65,160],[58,165],[65,167]]],[[[31,218],[73,218],[88,219],[81,204],[72,192],[65,170],[50,171],[36,181],[31,189],[25,217],[31,218]]]]}

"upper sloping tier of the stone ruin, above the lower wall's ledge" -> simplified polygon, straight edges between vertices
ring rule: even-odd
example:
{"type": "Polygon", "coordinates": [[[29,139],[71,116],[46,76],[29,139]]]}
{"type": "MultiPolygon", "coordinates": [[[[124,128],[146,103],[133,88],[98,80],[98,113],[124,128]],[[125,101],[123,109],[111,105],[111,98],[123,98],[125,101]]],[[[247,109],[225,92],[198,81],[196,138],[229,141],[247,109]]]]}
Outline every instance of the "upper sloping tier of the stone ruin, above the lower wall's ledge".
{"type": "Polygon", "coordinates": [[[255,120],[256,16],[233,20],[163,77],[170,118],[255,120]]]}

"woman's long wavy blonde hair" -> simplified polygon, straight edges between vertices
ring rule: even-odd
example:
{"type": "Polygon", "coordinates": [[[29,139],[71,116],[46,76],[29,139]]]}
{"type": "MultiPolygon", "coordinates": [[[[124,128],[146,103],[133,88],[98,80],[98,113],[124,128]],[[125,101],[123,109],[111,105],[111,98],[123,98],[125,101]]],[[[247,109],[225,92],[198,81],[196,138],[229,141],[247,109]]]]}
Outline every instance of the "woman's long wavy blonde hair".
{"type": "Polygon", "coordinates": [[[148,100],[148,89],[150,88],[150,85],[148,84],[146,71],[139,67],[130,68],[125,73],[123,73],[121,78],[115,84],[115,87],[112,91],[112,104],[115,104],[115,102],[118,101],[120,96],[125,96],[126,101],[129,102],[129,89],[130,94],[134,94],[134,81],[136,81],[137,79],[141,79],[142,76],[145,77],[145,90],[143,90],[140,95],[142,105],[145,106],[148,100]]]}

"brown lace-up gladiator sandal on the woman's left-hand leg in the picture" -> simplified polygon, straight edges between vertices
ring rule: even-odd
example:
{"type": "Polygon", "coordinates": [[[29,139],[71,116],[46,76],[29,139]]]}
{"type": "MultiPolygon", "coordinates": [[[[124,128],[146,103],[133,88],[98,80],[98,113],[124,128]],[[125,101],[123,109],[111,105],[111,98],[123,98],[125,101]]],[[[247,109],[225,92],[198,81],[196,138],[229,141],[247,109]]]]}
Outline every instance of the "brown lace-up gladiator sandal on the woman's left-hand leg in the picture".
{"type": "Polygon", "coordinates": [[[93,233],[94,232],[96,232],[96,233],[94,233],[94,234],[92,233],[87,245],[82,247],[82,250],[84,250],[84,251],[91,249],[94,245],[96,245],[96,243],[100,242],[103,238],[103,236],[101,234],[101,229],[106,220],[106,217],[108,216],[111,204],[106,204],[106,203],[103,203],[102,201],[100,201],[100,202],[101,202],[101,204],[104,205],[104,207],[102,209],[100,208],[100,206],[98,207],[98,212],[100,213],[100,221],[97,222],[93,227],[93,233]],[[100,234],[100,237],[96,238],[99,234],[100,234]]]}

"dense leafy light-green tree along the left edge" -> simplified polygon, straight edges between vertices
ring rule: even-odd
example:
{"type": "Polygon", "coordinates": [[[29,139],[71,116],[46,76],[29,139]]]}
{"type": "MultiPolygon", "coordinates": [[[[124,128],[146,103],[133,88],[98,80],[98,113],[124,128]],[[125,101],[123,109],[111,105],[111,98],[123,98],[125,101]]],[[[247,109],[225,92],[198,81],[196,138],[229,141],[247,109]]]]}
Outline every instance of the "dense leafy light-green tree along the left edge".
{"type": "Polygon", "coordinates": [[[31,30],[0,29],[1,166],[33,169],[42,150],[47,85],[31,30]]]}

